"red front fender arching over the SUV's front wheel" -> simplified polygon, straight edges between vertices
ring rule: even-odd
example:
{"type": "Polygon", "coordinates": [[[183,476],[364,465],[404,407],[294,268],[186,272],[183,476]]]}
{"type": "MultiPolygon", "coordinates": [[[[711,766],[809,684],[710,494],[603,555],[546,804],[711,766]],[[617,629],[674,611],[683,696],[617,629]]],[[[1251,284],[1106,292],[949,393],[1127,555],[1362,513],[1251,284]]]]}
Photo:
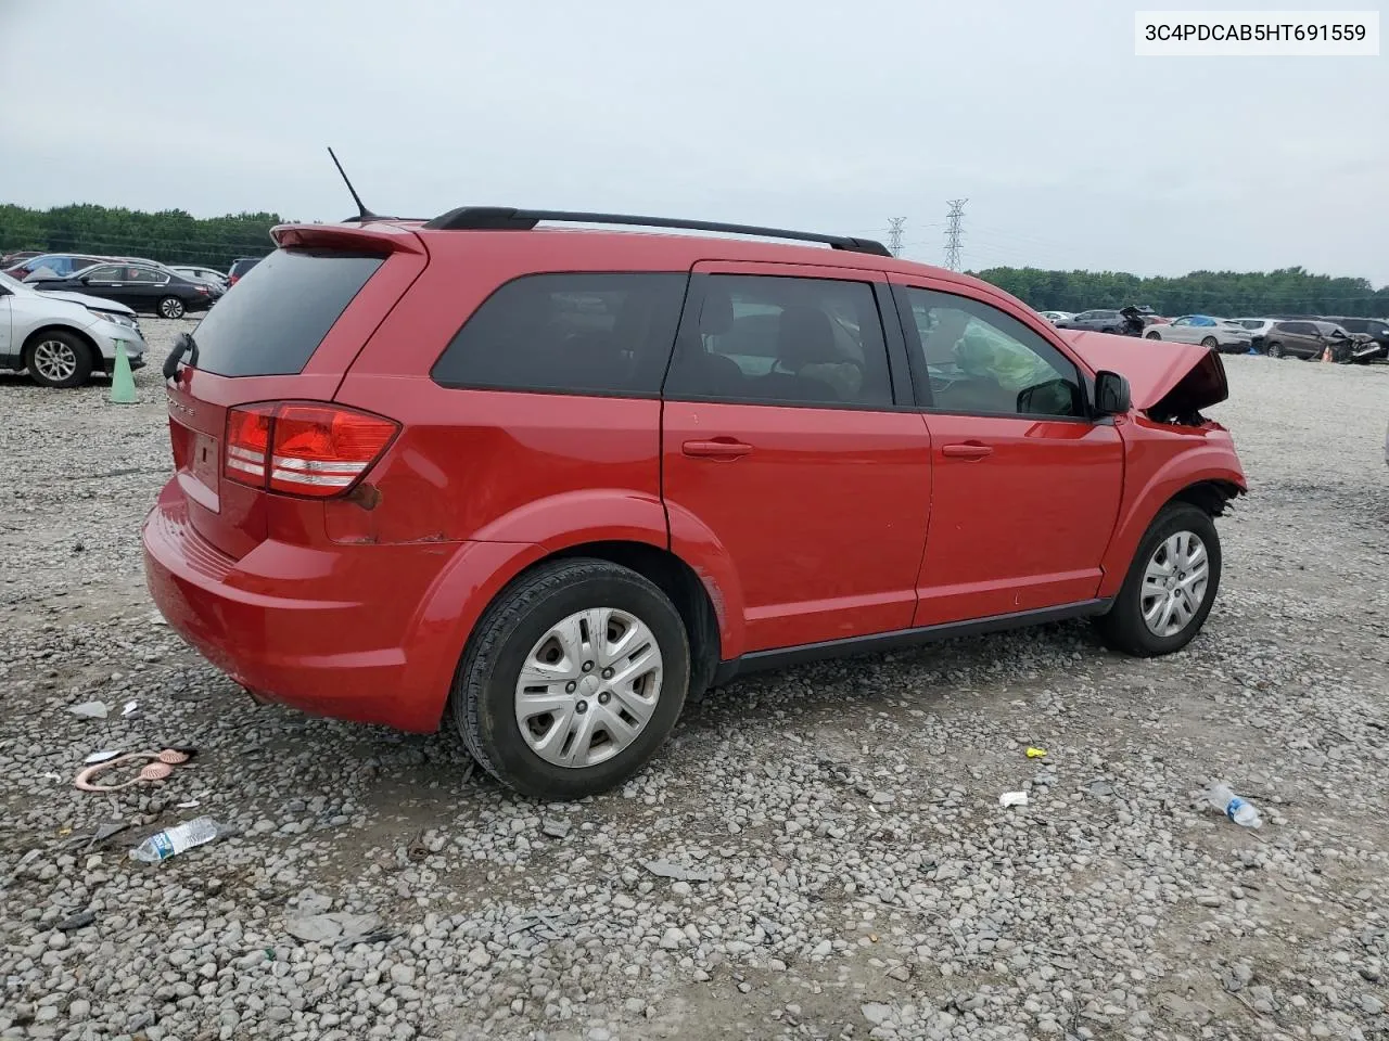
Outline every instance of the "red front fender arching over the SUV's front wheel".
{"type": "MultiPolygon", "coordinates": [[[[1229,434],[1221,433],[1221,440],[1211,439],[1207,444],[1175,444],[1175,452],[1146,471],[1147,451],[1163,447],[1156,439],[1142,439],[1136,448],[1129,450],[1125,464],[1124,502],[1120,507],[1114,534],[1104,552],[1104,579],[1100,582],[1100,597],[1117,595],[1128,576],[1133,554],[1143,540],[1153,518],[1181,491],[1206,482],[1233,484],[1242,491],[1247,489],[1245,471],[1239,465],[1229,434]],[[1131,490],[1132,489],[1132,490],[1131,490]]],[[[1199,436],[1199,434],[1196,434],[1199,436]]],[[[1171,437],[1167,434],[1165,437],[1171,437]]],[[[1179,437],[1185,436],[1179,434],[1179,437]]],[[[1165,439],[1164,439],[1165,440],[1165,439]]]]}

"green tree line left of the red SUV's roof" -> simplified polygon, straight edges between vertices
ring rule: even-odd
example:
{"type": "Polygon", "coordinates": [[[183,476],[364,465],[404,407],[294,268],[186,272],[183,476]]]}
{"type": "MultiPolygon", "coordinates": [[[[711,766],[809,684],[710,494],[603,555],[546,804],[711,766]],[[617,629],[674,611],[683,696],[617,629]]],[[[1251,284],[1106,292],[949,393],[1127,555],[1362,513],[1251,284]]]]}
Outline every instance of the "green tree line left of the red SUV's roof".
{"type": "Polygon", "coordinates": [[[183,210],[154,214],[124,207],[60,205],[29,210],[0,204],[0,253],[94,253],[147,257],[164,264],[203,264],[226,271],[238,257],[264,257],[275,244],[279,214],[196,218],[183,210]]]}

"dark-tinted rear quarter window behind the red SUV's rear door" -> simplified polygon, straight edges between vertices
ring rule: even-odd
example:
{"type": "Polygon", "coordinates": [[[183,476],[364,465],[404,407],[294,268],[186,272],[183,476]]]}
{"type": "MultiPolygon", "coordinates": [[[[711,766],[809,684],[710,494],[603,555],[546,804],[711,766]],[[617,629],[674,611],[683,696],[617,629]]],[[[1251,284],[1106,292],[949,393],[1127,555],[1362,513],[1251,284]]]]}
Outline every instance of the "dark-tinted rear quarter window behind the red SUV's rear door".
{"type": "Polygon", "coordinates": [[[429,375],[446,387],[656,397],[688,280],[526,275],[483,301],[429,375]]]}

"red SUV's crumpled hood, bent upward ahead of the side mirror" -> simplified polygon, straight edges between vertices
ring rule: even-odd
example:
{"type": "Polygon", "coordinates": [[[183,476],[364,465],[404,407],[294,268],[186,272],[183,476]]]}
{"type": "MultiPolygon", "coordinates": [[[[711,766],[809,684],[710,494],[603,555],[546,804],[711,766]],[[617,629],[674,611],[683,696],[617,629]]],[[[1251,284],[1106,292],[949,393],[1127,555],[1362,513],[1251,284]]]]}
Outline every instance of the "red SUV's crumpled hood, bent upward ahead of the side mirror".
{"type": "Polygon", "coordinates": [[[1117,372],[1129,382],[1133,408],[1196,412],[1229,397],[1225,364],[1199,343],[1140,340],[1135,336],[1057,329],[1092,369],[1117,372]]]}

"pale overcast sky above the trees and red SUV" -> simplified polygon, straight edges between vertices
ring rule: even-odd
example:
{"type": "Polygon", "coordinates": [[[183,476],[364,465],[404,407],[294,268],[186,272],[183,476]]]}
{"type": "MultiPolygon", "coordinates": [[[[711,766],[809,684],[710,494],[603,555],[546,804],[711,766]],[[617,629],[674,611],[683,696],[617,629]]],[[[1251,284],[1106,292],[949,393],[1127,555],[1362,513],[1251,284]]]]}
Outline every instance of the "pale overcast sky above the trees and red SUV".
{"type": "Polygon", "coordinates": [[[0,0],[0,201],[340,219],[332,144],[406,217],[906,217],[939,264],[968,197],[971,268],[1389,283],[1389,57],[1138,58],[1135,7],[0,0]]]}

